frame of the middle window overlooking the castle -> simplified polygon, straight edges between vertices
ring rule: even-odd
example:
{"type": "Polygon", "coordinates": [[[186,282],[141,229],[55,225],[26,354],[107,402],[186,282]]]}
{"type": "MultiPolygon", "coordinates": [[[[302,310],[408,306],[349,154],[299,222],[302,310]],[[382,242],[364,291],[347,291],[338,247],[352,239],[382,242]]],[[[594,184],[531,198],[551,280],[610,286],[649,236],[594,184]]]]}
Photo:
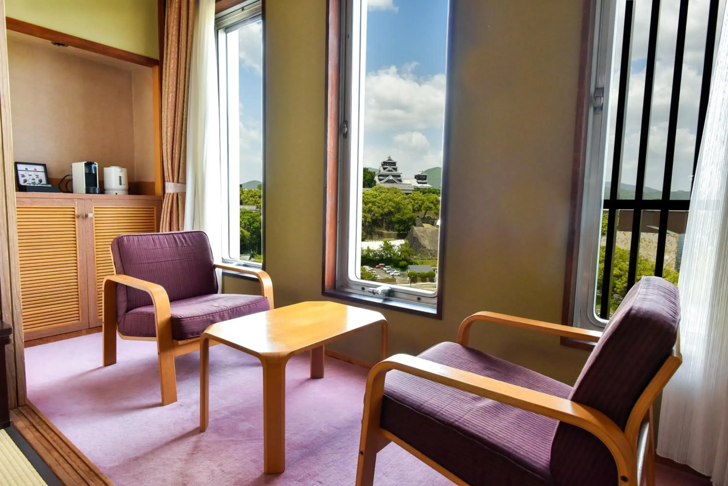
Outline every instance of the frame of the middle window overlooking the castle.
{"type": "MultiPolygon", "coordinates": [[[[436,291],[407,289],[403,286],[364,281],[356,278],[360,267],[360,251],[356,251],[357,235],[361,232],[361,162],[350,157],[352,145],[360,143],[357,129],[363,125],[362,114],[352,103],[355,93],[360,93],[365,71],[355,50],[360,39],[365,39],[365,23],[357,17],[355,6],[359,0],[332,0],[329,2],[327,38],[327,157],[324,215],[324,269],[323,294],[340,299],[366,302],[381,307],[394,307],[411,313],[441,318],[445,269],[445,241],[448,192],[448,146],[451,126],[451,52],[453,37],[454,1],[448,0],[446,39],[446,103],[443,117],[443,165],[440,184],[440,232],[438,241],[438,276],[436,291]],[[353,35],[353,27],[359,21],[360,36],[353,35]],[[353,81],[357,79],[357,85],[353,81]],[[334,93],[334,90],[335,93],[334,93]],[[354,117],[360,123],[354,124],[354,117]],[[352,126],[353,125],[353,126],[352,126]],[[354,128],[352,130],[352,128],[354,128]],[[356,190],[353,191],[352,188],[356,190]],[[355,221],[352,222],[352,214],[355,221]],[[349,259],[351,252],[354,257],[349,259]],[[389,295],[379,297],[371,291],[380,286],[389,287],[389,295]]],[[[360,49],[359,49],[360,50],[360,49]]],[[[364,52],[360,55],[365,56],[364,52]]]]}

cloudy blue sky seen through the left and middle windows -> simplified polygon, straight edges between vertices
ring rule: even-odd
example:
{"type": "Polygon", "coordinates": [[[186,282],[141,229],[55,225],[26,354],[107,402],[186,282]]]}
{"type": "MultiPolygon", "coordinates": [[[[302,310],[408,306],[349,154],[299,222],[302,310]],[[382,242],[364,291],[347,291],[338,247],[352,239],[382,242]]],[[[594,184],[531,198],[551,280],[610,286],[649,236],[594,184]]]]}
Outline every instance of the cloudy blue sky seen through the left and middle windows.
{"type": "MultiPolygon", "coordinates": [[[[363,0],[366,1],[366,0],[363,0]]],[[[442,165],[448,0],[368,0],[364,165],[442,165]]],[[[239,32],[240,181],[261,181],[262,30],[239,32]]]]}

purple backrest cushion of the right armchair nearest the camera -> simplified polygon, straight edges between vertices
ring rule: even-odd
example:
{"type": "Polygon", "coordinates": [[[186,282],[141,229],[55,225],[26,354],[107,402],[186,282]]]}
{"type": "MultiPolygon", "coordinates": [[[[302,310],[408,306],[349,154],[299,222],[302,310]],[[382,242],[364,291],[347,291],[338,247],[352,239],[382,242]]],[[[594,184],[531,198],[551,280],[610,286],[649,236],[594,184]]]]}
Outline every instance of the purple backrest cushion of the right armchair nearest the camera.
{"type": "MultiPolygon", "coordinates": [[[[672,353],[680,322],[678,288],[643,277],[614,312],[569,399],[593,407],[624,430],[632,408],[672,353]]],[[[559,486],[616,485],[617,466],[587,431],[559,423],[550,470],[559,486]]]]}

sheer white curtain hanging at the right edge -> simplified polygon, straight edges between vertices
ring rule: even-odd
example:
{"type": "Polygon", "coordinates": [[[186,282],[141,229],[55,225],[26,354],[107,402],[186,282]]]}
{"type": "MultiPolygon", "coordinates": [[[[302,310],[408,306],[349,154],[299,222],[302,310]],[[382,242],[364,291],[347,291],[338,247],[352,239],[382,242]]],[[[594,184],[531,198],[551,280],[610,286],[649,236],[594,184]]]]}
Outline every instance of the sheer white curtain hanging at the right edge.
{"type": "Polygon", "coordinates": [[[657,453],[728,486],[728,17],[713,71],[680,270],[683,364],[662,394],[657,453]]]}

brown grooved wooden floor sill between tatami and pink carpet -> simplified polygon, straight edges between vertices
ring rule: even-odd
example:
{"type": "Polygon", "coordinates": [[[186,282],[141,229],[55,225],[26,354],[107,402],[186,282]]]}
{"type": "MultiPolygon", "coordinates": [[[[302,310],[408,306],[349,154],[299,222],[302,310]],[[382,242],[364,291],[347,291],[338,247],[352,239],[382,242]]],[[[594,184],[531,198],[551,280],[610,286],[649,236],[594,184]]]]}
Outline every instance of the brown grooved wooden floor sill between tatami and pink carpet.
{"type": "Polygon", "coordinates": [[[114,486],[114,482],[33,404],[28,402],[10,413],[17,431],[64,485],[114,486]]]}

